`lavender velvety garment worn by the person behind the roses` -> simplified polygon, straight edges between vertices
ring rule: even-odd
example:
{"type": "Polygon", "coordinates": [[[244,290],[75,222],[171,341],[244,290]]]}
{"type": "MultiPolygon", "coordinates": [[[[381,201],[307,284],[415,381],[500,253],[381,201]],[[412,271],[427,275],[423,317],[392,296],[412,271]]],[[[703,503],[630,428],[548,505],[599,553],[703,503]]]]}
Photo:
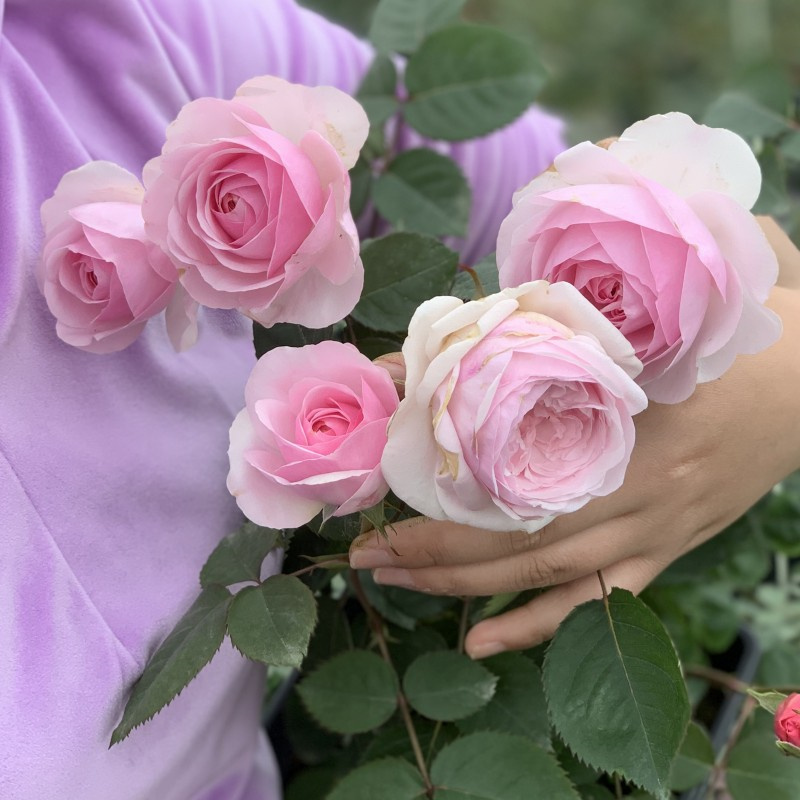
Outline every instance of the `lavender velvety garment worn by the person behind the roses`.
{"type": "MultiPolygon", "coordinates": [[[[272,800],[261,669],[229,646],[108,749],[126,694],[240,521],[227,431],[248,325],[207,312],[177,355],[163,321],[108,356],[60,342],[33,278],[38,209],[90,159],[139,173],[181,105],[256,74],[352,90],[368,48],[290,0],[0,0],[0,797],[272,800]]],[[[465,258],[562,146],[537,110],[459,145],[476,188],[465,258]]],[[[271,567],[276,568],[276,564],[271,567]]]]}

